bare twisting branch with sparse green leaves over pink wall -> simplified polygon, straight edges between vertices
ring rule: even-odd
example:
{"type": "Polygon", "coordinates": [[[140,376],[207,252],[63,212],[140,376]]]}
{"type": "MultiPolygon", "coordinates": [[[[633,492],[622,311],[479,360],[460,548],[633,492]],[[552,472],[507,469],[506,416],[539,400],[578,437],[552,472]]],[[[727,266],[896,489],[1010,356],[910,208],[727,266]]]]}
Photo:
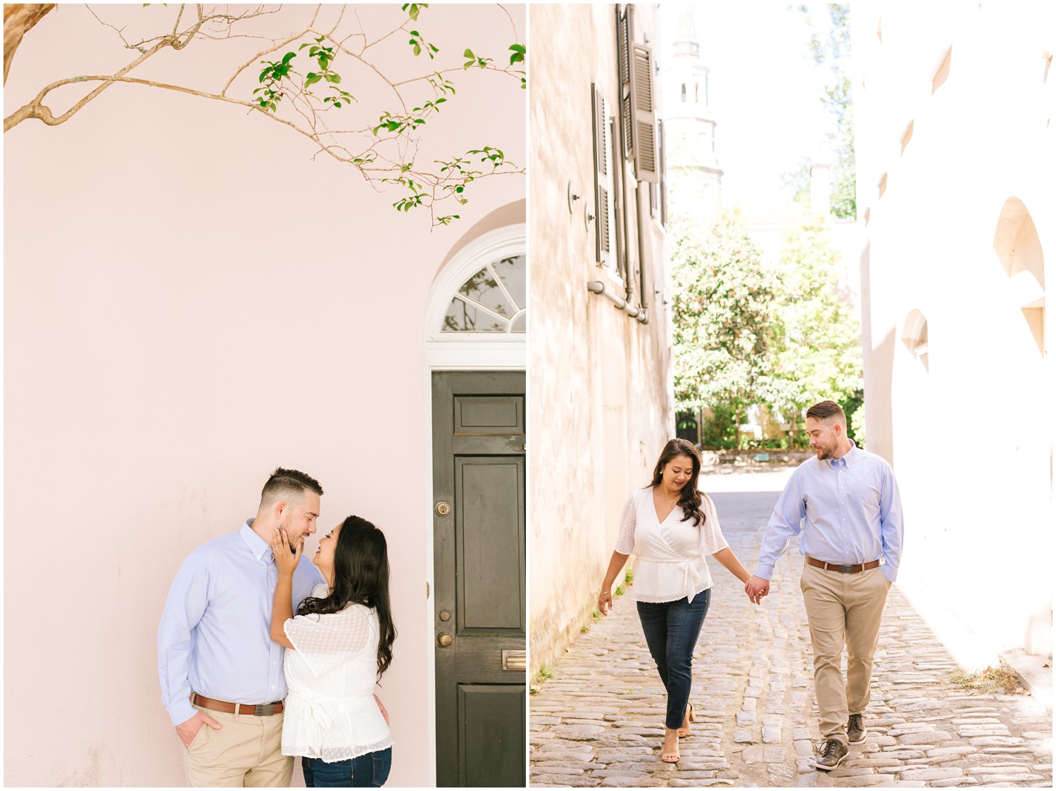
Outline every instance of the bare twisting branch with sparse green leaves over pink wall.
{"type": "MultiPolygon", "coordinates": [[[[23,36],[55,7],[5,6],[4,81],[23,36]]],[[[97,7],[106,16],[116,13],[113,6],[97,7]]],[[[393,203],[396,210],[422,208],[434,226],[449,225],[460,215],[441,213],[440,209],[465,205],[473,182],[524,172],[506,158],[501,148],[482,146],[479,140],[476,148],[442,159],[418,156],[423,128],[455,100],[458,74],[469,69],[484,70],[501,79],[512,78],[522,89],[527,84],[527,49],[515,40],[517,31],[509,12],[502,5],[491,11],[479,7],[482,20],[487,14],[495,17],[497,10],[502,15],[498,18],[508,20],[508,35],[514,42],[501,56],[485,57],[467,49],[465,62],[447,58],[441,64],[436,60],[439,48],[430,43],[423,33],[428,27],[423,12],[429,3],[404,3],[398,14],[394,5],[395,30],[371,31],[361,24],[355,6],[302,6],[298,10],[303,17],[299,30],[270,30],[263,35],[260,29],[266,29],[267,18],[280,8],[162,3],[144,8],[134,25],[118,27],[89,6],[101,25],[114,31],[120,42],[115,41],[115,49],[129,51],[130,60],[117,71],[101,67],[107,71],[67,77],[42,87],[34,98],[4,118],[4,132],[27,120],[48,127],[65,124],[113,86],[135,84],[182,93],[243,108],[278,123],[309,140],[317,155],[354,168],[375,188],[388,185],[400,190],[402,197],[393,203]],[[133,34],[131,27],[137,32],[133,34]],[[246,42],[254,39],[266,44],[252,44],[251,50],[246,50],[246,42]],[[183,52],[191,43],[196,44],[192,51],[205,45],[224,48],[229,59],[226,79],[224,74],[218,74],[213,86],[203,87],[138,76],[143,70],[136,70],[147,60],[159,53],[183,52]],[[355,86],[369,82],[386,87],[385,106],[360,105],[355,86]],[[52,93],[67,87],[70,92],[60,92],[64,109],[53,109],[58,99],[52,93]],[[67,97],[73,93],[77,95],[69,103],[67,97]]],[[[286,18],[271,26],[285,24],[286,18]]],[[[84,56],[113,62],[111,53],[84,56]]],[[[472,128],[467,129],[467,135],[472,134],[472,128]]]]}

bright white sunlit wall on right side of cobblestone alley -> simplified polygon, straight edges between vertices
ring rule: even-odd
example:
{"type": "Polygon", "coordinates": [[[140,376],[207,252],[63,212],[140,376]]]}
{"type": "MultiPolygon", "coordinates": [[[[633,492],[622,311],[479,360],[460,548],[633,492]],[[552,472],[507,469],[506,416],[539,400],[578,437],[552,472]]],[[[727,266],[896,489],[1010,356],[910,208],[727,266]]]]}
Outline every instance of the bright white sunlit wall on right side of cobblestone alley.
{"type": "Polygon", "coordinates": [[[1056,283],[1053,7],[864,2],[853,25],[868,441],[902,490],[899,583],[978,638],[964,662],[1050,653],[1056,378],[994,242],[1019,199],[1056,283]],[[928,370],[902,341],[914,309],[928,370]]]}

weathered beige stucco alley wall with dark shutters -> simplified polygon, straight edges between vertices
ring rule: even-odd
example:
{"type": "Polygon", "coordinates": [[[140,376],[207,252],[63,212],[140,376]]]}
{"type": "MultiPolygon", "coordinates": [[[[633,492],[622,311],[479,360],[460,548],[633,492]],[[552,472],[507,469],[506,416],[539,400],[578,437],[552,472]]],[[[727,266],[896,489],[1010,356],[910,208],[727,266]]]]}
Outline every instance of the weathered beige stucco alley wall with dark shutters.
{"type": "MultiPolygon", "coordinates": [[[[638,17],[653,24],[652,10],[638,17]]],[[[662,300],[648,295],[641,324],[587,282],[607,278],[595,262],[593,230],[566,189],[593,189],[590,84],[617,107],[611,5],[532,5],[529,99],[531,339],[529,343],[529,597],[531,668],[568,644],[596,606],[623,504],[648,483],[673,436],[670,331],[662,300]]],[[[659,86],[658,86],[659,88],[659,86]]],[[[589,200],[589,199],[588,199],[589,200]]],[[[614,229],[615,233],[615,229],[614,229]]],[[[647,229],[665,283],[662,232],[647,229]]],[[[627,606],[624,602],[621,606],[627,606]]]]}

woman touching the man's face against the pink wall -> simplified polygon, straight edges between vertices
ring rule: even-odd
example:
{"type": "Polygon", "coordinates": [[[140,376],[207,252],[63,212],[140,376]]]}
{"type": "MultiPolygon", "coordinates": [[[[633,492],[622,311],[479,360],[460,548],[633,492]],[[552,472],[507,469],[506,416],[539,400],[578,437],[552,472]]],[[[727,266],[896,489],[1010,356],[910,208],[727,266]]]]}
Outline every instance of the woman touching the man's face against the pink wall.
{"type": "Polygon", "coordinates": [[[279,568],[271,639],[285,645],[283,755],[300,755],[304,783],[381,786],[392,767],[389,718],[374,685],[393,659],[385,536],[348,516],[319,540],[313,563],[326,583],[293,616],[290,581],[301,545],[289,551],[285,531],[271,536],[279,568]]]}

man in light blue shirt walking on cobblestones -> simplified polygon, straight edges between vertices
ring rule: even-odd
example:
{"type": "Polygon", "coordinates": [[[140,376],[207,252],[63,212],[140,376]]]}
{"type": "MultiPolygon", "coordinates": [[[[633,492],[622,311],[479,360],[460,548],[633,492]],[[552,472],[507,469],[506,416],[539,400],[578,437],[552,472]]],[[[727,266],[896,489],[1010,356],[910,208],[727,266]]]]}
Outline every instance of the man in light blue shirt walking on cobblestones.
{"type": "Polygon", "coordinates": [[[890,465],[847,438],[847,417],[834,401],[807,410],[816,457],[799,465],[774,506],[755,575],[744,585],[759,603],[774,565],[800,535],[800,586],[814,647],[814,689],[825,745],[815,761],[830,771],[867,731],[872,661],[887,590],[902,558],[902,504],[890,465]],[[840,670],[847,646],[847,680],[840,670]]]}

